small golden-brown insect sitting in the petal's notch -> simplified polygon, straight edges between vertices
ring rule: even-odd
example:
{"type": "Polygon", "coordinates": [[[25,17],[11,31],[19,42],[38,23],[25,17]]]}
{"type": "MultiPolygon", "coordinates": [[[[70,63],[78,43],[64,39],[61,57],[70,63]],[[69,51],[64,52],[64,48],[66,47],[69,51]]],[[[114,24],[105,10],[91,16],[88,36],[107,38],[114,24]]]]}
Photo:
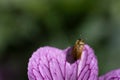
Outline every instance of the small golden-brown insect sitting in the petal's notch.
{"type": "Polygon", "coordinates": [[[82,39],[78,39],[73,46],[72,55],[75,60],[79,59],[82,55],[82,51],[84,49],[84,41],[82,39]]]}

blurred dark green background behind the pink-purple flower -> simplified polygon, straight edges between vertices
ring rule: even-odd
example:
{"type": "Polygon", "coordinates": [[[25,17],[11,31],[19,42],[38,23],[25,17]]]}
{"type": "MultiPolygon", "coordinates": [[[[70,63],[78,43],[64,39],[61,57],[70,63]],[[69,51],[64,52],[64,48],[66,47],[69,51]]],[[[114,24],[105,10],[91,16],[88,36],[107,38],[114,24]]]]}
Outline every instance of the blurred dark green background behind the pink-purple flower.
{"type": "Polygon", "coordinates": [[[33,51],[78,38],[94,48],[99,75],[120,68],[120,0],[0,0],[0,80],[28,80],[33,51]]]}

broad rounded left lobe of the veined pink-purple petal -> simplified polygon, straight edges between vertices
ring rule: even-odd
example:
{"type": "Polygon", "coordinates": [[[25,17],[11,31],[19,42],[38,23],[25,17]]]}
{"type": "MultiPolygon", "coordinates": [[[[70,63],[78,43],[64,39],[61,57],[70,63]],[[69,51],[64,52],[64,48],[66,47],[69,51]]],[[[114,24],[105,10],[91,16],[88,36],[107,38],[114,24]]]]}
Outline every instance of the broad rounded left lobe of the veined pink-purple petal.
{"type": "Polygon", "coordinates": [[[57,48],[38,49],[29,60],[29,80],[63,80],[65,58],[63,51],[57,48]]]}

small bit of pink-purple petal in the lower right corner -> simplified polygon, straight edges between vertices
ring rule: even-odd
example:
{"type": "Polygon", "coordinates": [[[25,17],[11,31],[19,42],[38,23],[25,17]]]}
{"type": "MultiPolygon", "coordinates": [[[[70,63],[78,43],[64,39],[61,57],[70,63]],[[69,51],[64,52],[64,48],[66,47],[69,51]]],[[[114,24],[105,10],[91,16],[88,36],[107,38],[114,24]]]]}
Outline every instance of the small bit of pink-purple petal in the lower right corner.
{"type": "Polygon", "coordinates": [[[99,80],[120,80],[120,69],[112,70],[101,76],[99,80]]]}

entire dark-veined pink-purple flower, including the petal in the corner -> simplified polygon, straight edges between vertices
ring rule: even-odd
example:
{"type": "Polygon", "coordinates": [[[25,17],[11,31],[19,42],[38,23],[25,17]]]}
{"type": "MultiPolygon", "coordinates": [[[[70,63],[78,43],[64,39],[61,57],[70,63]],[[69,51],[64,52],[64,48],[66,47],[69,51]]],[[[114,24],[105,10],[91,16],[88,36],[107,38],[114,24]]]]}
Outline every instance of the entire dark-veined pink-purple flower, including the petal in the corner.
{"type": "Polygon", "coordinates": [[[29,80],[120,80],[120,70],[98,77],[98,63],[93,49],[85,44],[79,59],[64,50],[45,46],[35,51],[28,63],[29,80]]]}

